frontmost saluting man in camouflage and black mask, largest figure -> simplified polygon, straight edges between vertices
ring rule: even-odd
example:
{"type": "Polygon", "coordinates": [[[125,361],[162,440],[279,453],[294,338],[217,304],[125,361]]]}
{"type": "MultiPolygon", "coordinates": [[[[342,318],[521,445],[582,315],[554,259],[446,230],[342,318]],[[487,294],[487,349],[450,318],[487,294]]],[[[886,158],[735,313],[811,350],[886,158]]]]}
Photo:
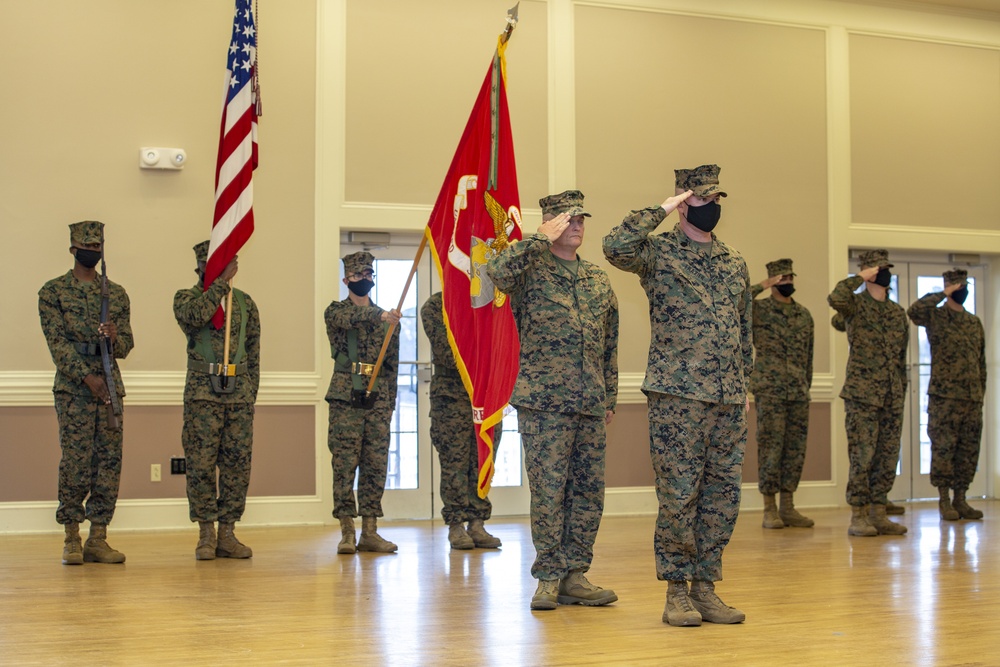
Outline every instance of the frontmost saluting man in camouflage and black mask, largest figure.
{"type": "Polygon", "coordinates": [[[604,256],[639,275],[652,338],[642,390],[660,501],[656,576],[663,622],[741,623],[715,594],[740,506],[753,370],[746,262],[712,234],[721,216],[719,167],[678,169],[676,194],[632,211],[604,238],[604,256]],[[652,235],[674,210],[673,230],[652,235]],[[690,591],[688,580],[691,581],[690,591]]]}

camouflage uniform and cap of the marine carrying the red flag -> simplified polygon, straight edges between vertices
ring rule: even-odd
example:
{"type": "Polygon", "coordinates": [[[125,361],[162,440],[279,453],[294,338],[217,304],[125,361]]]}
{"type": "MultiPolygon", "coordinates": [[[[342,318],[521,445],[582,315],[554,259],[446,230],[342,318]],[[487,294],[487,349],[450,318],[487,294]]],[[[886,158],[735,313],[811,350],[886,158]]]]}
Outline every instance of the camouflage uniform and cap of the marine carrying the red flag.
{"type": "MultiPolygon", "coordinates": [[[[344,258],[344,275],[371,268],[368,253],[344,258]],[[362,262],[360,256],[366,256],[362,262]],[[362,267],[362,264],[364,266],[362,267]]],[[[341,518],[382,516],[382,494],[389,466],[392,413],[396,407],[396,373],[399,365],[399,327],[393,331],[379,371],[372,409],[351,406],[356,385],[367,389],[369,375],[356,376],[352,363],[374,364],[389,324],[382,322],[382,308],[374,303],[355,305],[350,297],[331,303],[324,314],[330,352],[335,361],[326,400],[330,404],[328,445],[333,465],[333,516],[341,518]],[[357,331],[357,359],[351,358],[349,332],[357,331]],[[357,379],[355,379],[355,377],[357,379]],[[354,477],[358,477],[355,501],[354,477]]]]}

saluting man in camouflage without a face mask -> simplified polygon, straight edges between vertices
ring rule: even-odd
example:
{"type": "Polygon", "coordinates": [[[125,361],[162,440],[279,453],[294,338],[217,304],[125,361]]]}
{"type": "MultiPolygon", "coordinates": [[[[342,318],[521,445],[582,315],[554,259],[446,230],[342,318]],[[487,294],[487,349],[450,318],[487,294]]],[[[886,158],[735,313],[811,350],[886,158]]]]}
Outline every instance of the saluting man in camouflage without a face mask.
{"type": "Polygon", "coordinates": [[[618,599],[584,574],[604,512],[606,426],[618,398],[618,299],[607,274],[580,259],[583,194],[539,200],[538,232],[490,259],[521,338],[517,408],[531,488],[532,609],[618,599]]]}

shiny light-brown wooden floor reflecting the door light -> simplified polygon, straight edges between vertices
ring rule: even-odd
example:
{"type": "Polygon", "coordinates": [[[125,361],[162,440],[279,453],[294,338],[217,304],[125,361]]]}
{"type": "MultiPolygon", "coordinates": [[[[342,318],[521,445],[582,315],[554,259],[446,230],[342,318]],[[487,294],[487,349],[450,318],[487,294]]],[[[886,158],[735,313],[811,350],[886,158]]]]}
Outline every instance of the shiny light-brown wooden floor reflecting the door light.
{"type": "MultiPolygon", "coordinates": [[[[64,566],[61,536],[0,538],[3,665],[1000,665],[1000,502],[905,537],[849,538],[744,512],[717,591],[744,624],[674,628],[653,517],[606,518],[590,578],[619,601],[532,612],[525,519],[494,551],[451,551],[440,521],[386,523],[395,555],[336,555],[333,527],[241,529],[249,561],[194,560],[196,530],[115,533],[125,565],[64,566]]],[[[112,527],[113,528],[113,527],[112,527]]]]}

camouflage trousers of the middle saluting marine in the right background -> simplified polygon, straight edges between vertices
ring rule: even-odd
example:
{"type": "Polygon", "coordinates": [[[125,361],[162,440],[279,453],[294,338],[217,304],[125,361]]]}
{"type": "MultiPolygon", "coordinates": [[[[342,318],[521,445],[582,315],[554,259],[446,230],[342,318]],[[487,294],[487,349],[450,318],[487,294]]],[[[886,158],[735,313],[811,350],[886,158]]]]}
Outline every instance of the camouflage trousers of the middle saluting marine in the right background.
{"type": "Polygon", "coordinates": [[[851,460],[847,504],[884,505],[896,482],[899,439],[903,432],[903,402],[868,405],[844,399],[847,414],[847,454],[851,460]]]}

